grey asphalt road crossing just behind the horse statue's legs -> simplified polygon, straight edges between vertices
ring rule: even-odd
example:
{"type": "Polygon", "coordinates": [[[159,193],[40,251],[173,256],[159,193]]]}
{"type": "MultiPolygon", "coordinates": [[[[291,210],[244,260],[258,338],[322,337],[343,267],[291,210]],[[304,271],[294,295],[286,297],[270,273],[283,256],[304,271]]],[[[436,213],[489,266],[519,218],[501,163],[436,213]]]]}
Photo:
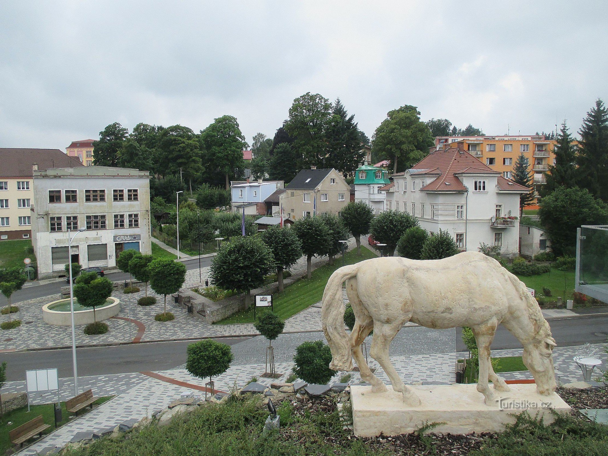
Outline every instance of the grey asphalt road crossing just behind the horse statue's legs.
{"type": "MultiPolygon", "coordinates": [[[[551,320],[553,337],[561,347],[582,345],[587,342],[599,344],[608,337],[608,316],[585,316],[571,319],[551,320]]],[[[402,331],[407,331],[404,328],[402,331]]],[[[322,336],[321,336],[322,337],[322,336]]],[[[226,344],[245,342],[247,337],[218,339],[226,344]]],[[[106,375],[148,370],[164,370],[185,363],[186,342],[156,342],[151,344],[117,345],[114,347],[79,348],[78,375],[106,375]]],[[[521,348],[519,341],[499,326],[494,350],[521,348]]],[[[456,350],[466,351],[457,330],[456,350]]],[[[7,361],[8,380],[24,380],[25,371],[33,368],[59,368],[61,378],[72,375],[71,350],[26,351],[0,354],[0,361],[7,361]]]]}

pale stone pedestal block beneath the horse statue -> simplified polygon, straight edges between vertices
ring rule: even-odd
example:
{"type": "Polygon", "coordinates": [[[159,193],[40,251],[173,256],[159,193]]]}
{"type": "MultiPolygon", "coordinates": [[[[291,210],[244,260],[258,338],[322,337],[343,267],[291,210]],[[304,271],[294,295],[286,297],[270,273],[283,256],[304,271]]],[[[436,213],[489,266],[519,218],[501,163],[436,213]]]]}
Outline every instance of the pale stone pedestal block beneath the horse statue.
{"type": "Polygon", "coordinates": [[[570,406],[556,393],[541,396],[535,384],[511,384],[508,393],[496,393],[495,406],[486,406],[475,384],[412,386],[421,405],[409,407],[401,393],[389,386],[385,393],[372,393],[371,386],[351,386],[354,434],[359,437],[409,434],[430,423],[443,423],[432,431],[438,434],[500,432],[506,423],[514,423],[524,411],[543,416],[552,423],[551,409],[569,413],[570,406]]]}

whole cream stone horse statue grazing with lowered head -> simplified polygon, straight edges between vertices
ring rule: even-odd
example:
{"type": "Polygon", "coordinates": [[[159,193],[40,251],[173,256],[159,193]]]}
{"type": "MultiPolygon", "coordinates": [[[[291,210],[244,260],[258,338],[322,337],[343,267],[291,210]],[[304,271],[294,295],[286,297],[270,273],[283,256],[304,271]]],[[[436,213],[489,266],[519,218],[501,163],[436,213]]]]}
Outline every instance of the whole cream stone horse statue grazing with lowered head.
{"type": "Polygon", "coordinates": [[[371,357],[410,406],[419,405],[420,399],[399,379],[389,359],[389,344],[408,321],[436,329],[471,327],[479,351],[477,391],[488,405],[497,404],[488,379],[495,390],[509,391],[490,362],[490,345],[500,323],[522,343],[523,364],[534,376],[537,392],[548,396],[556,387],[552,358],[556,343],[538,303],[515,275],[479,252],[443,260],[373,258],[339,268],[325,286],[321,319],[333,356],[330,367],[351,371],[354,356],[361,378],[370,382],[373,392],[384,392],[384,383],[371,373],[361,352],[362,342],[373,330],[371,357]],[[356,319],[350,339],[344,329],[344,281],[356,319]]]}

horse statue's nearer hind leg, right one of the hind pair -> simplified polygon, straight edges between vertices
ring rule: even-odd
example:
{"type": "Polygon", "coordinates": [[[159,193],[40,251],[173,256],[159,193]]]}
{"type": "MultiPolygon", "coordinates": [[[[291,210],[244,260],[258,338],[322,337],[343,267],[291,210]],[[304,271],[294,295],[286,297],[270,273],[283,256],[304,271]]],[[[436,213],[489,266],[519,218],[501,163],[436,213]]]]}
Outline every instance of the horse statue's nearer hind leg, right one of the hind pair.
{"type": "Polygon", "coordinates": [[[389,376],[390,382],[393,385],[393,390],[403,393],[403,402],[409,406],[415,407],[420,405],[420,399],[412,389],[408,388],[401,381],[389,358],[389,345],[401,329],[401,326],[403,326],[403,323],[407,320],[409,320],[409,317],[392,323],[374,322],[374,336],[371,341],[371,358],[378,361],[386,372],[386,375],[389,376]]]}

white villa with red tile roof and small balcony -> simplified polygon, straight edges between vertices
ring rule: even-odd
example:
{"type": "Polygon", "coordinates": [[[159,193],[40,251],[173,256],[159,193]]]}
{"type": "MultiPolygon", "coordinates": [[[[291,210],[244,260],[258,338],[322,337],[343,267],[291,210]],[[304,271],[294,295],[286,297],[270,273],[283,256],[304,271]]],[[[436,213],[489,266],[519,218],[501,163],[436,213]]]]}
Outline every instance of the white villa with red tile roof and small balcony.
{"type": "Polygon", "coordinates": [[[485,243],[519,253],[519,197],[528,189],[460,147],[432,151],[380,190],[386,209],[412,214],[432,234],[447,230],[463,250],[485,243]]]}

